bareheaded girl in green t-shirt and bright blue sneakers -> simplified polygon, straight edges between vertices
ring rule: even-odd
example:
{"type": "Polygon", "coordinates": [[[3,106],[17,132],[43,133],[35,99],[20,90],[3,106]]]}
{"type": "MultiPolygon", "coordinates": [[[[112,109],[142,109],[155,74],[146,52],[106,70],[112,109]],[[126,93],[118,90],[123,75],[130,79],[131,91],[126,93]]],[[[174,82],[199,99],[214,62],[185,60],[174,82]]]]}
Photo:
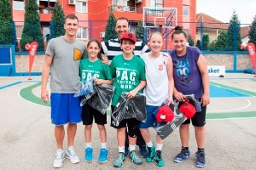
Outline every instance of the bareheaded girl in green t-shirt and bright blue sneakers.
{"type": "MultiPolygon", "coordinates": [[[[102,63],[100,54],[101,43],[96,39],[91,39],[87,44],[88,58],[84,58],[80,62],[80,76],[82,81],[88,81],[91,78],[94,79],[96,84],[112,84],[111,71],[108,65],[102,63]]],[[[100,156],[98,158],[99,163],[104,163],[108,159],[107,150],[107,133],[105,124],[107,124],[107,114],[102,114],[100,111],[92,108],[90,105],[83,105],[82,107],[82,119],[85,125],[85,161],[93,161],[93,149],[91,147],[91,127],[93,117],[97,124],[100,133],[100,139],[102,143],[102,149],[100,150],[100,156]]]]}

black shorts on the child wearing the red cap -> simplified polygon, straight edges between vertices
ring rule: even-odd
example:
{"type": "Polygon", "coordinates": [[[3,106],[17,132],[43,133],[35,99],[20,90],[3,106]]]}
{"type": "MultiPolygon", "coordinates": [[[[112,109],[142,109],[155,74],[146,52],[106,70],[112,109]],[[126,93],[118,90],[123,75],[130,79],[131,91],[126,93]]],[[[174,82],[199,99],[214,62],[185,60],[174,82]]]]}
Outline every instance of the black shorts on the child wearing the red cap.
{"type": "MultiPolygon", "coordinates": [[[[111,105],[111,110],[113,112],[115,106],[111,105]]],[[[136,118],[131,118],[131,119],[124,119],[122,120],[120,123],[119,123],[119,126],[115,126],[113,125],[113,119],[111,117],[111,127],[114,127],[114,128],[123,128],[123,127],[129,127],[129,128],[139,128],[140,125],[141,125],[141,122],[138,121],[136,118]]]]}

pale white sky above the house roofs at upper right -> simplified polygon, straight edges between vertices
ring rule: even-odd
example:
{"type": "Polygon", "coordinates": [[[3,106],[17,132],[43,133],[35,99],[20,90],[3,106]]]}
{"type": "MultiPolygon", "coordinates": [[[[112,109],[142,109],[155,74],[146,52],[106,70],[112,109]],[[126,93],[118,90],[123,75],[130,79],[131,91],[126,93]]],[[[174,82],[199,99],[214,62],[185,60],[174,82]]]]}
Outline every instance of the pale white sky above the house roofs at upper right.
{"type": "Polygon", "coordinates": [[[224,23],[230,22],[233,9],[241,24],[252,24],[256,0],[196,0],[196,14],[204,13],[224,23]]]}

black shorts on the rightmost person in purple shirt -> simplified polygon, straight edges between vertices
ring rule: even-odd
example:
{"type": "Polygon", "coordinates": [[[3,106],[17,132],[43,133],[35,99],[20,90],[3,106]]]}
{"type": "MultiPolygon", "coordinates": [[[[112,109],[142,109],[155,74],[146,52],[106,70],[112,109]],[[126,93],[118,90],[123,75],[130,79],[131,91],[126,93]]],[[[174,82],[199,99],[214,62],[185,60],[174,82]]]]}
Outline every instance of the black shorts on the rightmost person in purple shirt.
{"type": "MultiPolygon", "coordinates": [[[[196,112],[191,118],[192,125],[195,127],[203,127],[206,124],[207,106],[201,106],[201,112],[196,112]]],[[[190,119],[187,119],[183,124],[189,124],[190,119]]]]}

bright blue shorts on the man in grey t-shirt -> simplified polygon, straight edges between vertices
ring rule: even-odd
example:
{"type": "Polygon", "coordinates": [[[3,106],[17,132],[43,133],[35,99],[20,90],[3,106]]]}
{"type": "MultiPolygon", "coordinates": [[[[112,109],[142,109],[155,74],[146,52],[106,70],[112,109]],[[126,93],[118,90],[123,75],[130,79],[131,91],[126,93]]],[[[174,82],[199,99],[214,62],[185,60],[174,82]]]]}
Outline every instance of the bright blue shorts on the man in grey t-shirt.
{"type": "Polygon", "coordinates": [[[80,98],[73,94],[50,94],[51,122],[56,126],[82,121],[80,98]]]}

